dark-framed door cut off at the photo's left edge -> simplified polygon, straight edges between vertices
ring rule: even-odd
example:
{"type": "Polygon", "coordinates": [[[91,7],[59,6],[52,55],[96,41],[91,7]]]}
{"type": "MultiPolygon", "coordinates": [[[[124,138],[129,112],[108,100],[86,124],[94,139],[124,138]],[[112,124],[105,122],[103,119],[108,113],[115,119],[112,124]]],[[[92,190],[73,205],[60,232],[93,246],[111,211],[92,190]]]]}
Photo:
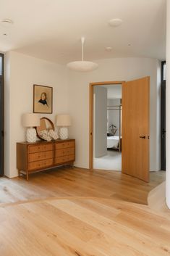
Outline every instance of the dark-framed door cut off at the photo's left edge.
{"type": "Polygon", "coordinates": [[[0,176],[4,175],[4,54],[0,54],[0,176]]]}

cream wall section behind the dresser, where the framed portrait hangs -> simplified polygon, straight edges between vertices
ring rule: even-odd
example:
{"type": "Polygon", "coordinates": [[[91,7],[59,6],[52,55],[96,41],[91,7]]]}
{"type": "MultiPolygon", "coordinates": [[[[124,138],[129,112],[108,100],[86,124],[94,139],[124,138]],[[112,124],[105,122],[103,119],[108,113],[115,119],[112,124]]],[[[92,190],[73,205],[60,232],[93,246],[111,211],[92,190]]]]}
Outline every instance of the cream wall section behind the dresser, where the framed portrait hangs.
{"type": "Polygon", "coordinates": [[[12,178],[17,176],[16,142],[25,141],[21,116],[33,112],[33,84],[53,87],[53,114],[41,115],[53,122],[57,113],[67,113],[68,93],[64,66],[16,52],[9,52],[5,59],[4,174],[12,178]]]}

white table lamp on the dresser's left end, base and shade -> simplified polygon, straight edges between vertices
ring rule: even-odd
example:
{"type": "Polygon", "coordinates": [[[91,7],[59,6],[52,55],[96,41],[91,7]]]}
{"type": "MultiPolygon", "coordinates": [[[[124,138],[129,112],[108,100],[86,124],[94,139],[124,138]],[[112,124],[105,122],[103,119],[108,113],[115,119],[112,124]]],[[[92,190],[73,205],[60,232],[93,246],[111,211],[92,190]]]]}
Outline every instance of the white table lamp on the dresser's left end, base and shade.
{"type": "Polygon", "coordinates": [[[41,125],[40,114],[26,113],[22,115],[22,125],[27,127],[26,141],[30,143],[35,142],[37,133],[34,127],[41,125]]]}

